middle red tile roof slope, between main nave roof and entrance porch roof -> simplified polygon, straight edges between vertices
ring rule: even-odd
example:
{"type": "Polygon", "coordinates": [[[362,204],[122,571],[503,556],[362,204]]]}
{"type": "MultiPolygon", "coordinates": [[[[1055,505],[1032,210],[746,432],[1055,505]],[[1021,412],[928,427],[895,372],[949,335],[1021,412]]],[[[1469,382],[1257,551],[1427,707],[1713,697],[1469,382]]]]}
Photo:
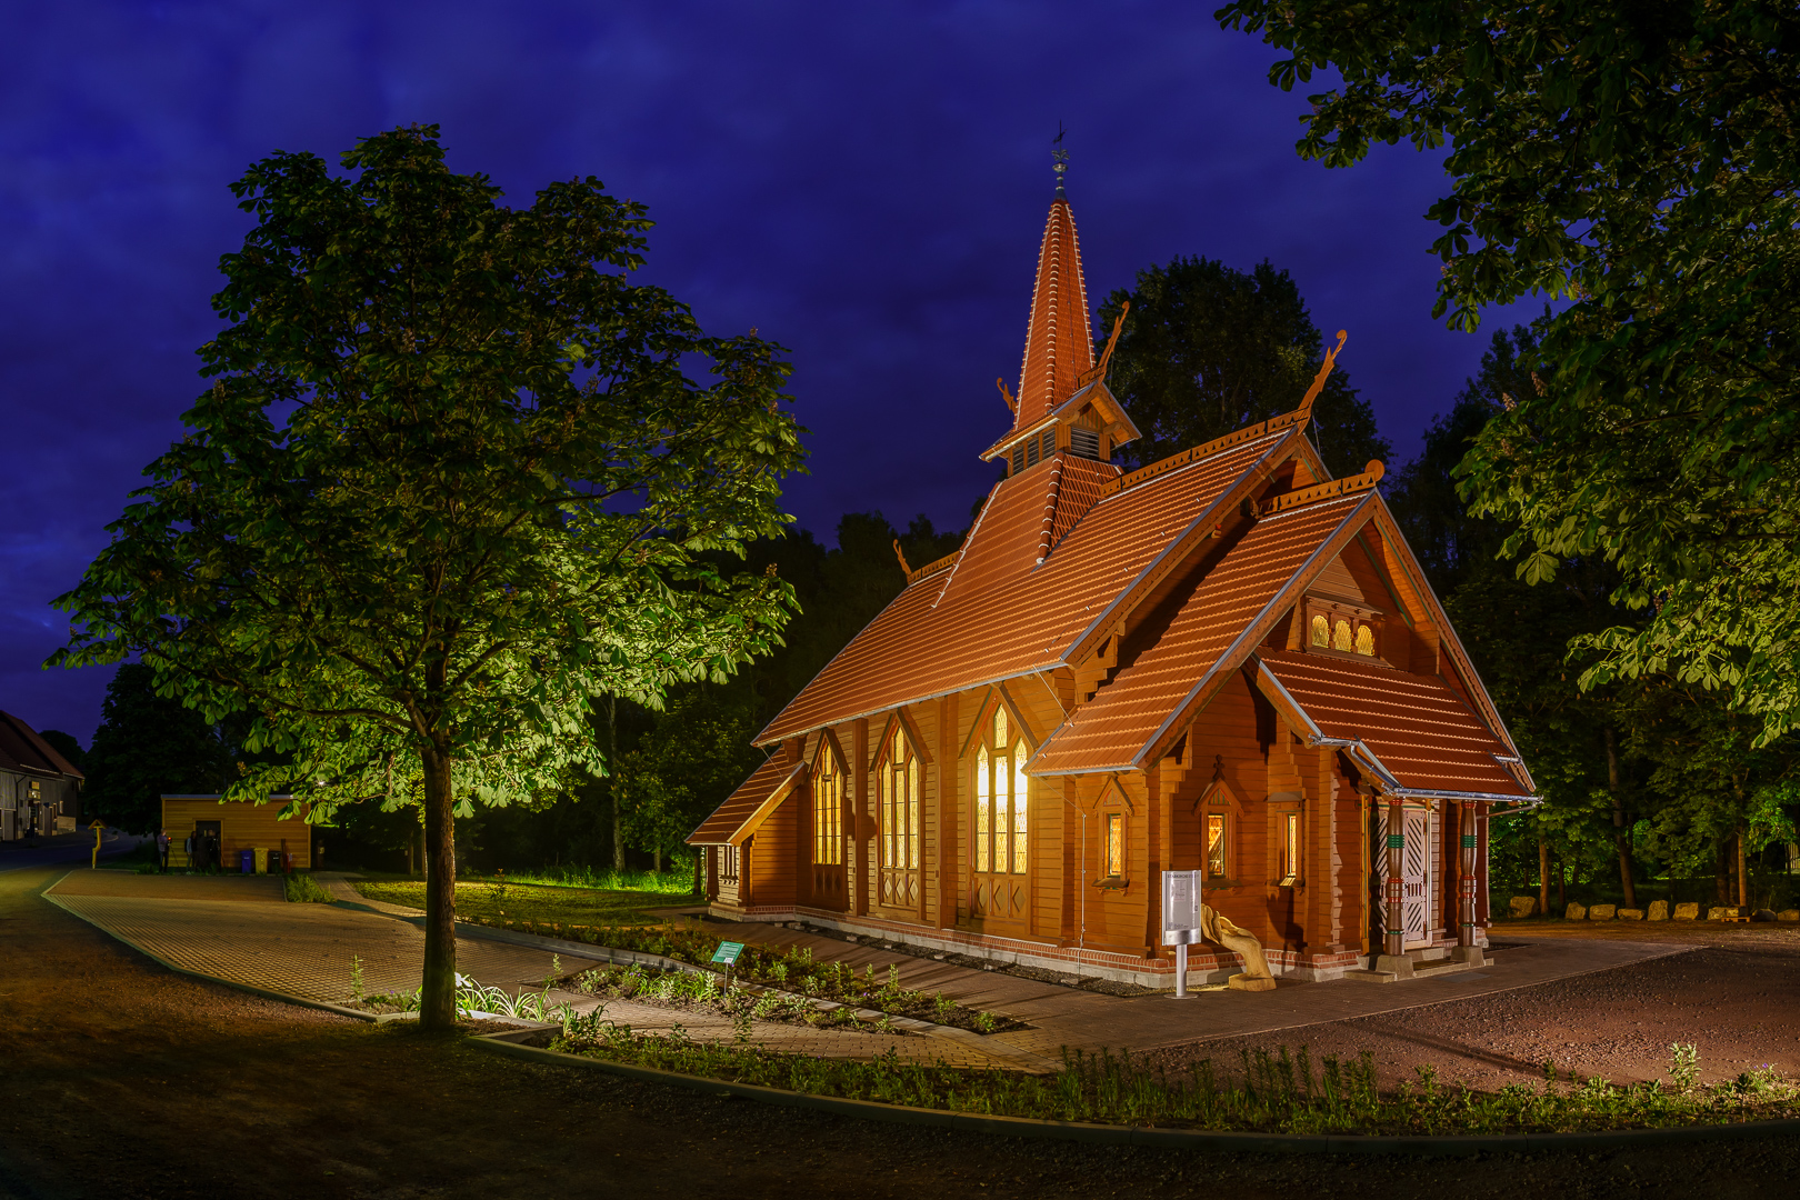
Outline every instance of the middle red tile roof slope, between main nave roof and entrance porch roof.
{"type": "MultiPolygon", "coordinates": [[[[1123,495],[1132,495],[1130,491],[1123,495]]],[[[1136,660],[1078,707],[1031,759],[1033,775],[1134,770],[1197,711],[1368,516],[1368,493],[1256,522],[1136,660]]]]}

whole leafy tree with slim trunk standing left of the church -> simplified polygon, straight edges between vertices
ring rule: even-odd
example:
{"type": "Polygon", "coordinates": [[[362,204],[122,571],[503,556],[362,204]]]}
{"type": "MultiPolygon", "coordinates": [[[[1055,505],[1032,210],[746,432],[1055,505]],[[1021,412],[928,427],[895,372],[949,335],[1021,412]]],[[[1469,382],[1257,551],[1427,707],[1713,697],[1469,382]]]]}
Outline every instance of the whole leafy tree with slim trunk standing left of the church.
{"type": "Polygon", "coordinates": [[[776,347],[632,282],[641,205],[581,178],[504,207],[436,135],[234,185],[257,225],[221,261],[212,385],[58,601],[52,658],[135,649],[209,718],[254,712],[284,761],[243,799],[418,775],[427,1025],[454,1020],[454,817],[605,770],[592,696],[655,705],[776,642],[787,585],[729,563],[801,464],[776,347]]]}

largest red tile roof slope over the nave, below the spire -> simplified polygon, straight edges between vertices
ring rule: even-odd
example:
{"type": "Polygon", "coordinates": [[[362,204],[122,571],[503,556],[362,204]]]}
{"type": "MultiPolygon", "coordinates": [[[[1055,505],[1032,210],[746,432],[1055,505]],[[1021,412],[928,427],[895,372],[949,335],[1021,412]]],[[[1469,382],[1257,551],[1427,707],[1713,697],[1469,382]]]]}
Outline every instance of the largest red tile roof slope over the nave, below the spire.
{"type": "Polygon", "coordinates": [[[1118,468],[1058,453],[1001,480],[954,567],[907,587],[756,741],[1062,664],[1172,543],[1219,520],[1220,498],[1264,459],[1278,459],[1289,435],[1240,443],[1085,511],[1085,498],[1103,491],[1118,468]],[[1055,545],[1039,563],[1046,511],[1055,513],[1055,545]],[[1071,524],[1057,538],[1064,520],[1071,524]]]}

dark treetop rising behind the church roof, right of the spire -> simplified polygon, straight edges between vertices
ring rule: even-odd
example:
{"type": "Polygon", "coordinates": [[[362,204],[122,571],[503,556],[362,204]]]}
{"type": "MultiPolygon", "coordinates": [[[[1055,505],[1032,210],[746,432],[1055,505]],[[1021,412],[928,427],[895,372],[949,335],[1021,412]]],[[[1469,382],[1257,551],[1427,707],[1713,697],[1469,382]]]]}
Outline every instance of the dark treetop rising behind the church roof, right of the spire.
{"type": "MultiPolygon", "coordinates": [[[[1269,263],[1247,272],[1204,257],[1150,266],[1129,291],[1107,297],[1103,327],[1112,327],[1125,300],[1130,313],[1111,387],[1143,434],[1121,450],[1130,464],[1291,412],[1325,356],[1300,288],[1269,263]]],[[[1343,371],[1332,372],[1314,401],[1310,434],[1334,475],[1354,475],[1390,453],[1373,410],[1343,371]]]]}

